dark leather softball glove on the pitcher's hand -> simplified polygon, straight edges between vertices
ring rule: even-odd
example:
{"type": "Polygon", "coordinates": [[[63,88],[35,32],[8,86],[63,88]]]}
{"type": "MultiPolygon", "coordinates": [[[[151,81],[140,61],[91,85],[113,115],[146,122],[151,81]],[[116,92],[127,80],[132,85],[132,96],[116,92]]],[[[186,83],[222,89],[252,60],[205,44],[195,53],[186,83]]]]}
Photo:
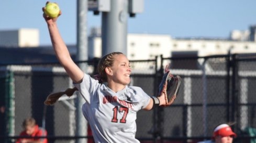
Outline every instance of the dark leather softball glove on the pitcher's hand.
{"type": "Polygon", "coordinates": [[[179,75],[172,75],[169,66],[165,67],[165,74],[163,75],[163,79],[159,85],[159,96],[162,93],[165,96],[165,105],[161,105],[163,107],[170,106],[177,94],[179,93],[179,89],[181,86],[181,77],[179,75]]]}

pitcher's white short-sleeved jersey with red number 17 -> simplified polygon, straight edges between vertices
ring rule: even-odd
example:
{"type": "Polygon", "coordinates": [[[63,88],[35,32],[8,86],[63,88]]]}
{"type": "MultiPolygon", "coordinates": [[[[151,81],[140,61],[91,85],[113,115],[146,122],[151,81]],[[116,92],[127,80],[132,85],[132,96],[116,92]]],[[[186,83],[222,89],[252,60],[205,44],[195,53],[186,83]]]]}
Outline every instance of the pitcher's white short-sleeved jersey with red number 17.
{"type": "Polygon", "coordinates": [[[74,86],[86,101],[82,111],[95,142],[139,142],[135,138],[137,112],[150,101],[140,87],[126,86],[115,93],[88,74],[74,86]]]}

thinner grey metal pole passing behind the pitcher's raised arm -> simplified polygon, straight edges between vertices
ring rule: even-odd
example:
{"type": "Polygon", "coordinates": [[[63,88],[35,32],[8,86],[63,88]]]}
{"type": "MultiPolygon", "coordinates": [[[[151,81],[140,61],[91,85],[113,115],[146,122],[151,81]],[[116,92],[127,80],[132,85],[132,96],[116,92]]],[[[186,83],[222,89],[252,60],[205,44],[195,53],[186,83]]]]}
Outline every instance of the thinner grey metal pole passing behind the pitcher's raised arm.
{"type": "MultiPolygon", "coordinates": [[[[76,60],[85,61],[88,59],[87,54],[87,0],[77,0],[77,53],[76,60]]],[[[81,70],[86,72],[86,63],[80,63],[81,70]]],[[[78,93],[79,94],[79,93],[78,93]]],[[[84,99],[81,95],[77,96],[76,102],[76,136],[87,136],[87,121],[82,113],[84,99]]],[[[85,138],[79,138],[77,143],[87,142],[85,138]]]]}

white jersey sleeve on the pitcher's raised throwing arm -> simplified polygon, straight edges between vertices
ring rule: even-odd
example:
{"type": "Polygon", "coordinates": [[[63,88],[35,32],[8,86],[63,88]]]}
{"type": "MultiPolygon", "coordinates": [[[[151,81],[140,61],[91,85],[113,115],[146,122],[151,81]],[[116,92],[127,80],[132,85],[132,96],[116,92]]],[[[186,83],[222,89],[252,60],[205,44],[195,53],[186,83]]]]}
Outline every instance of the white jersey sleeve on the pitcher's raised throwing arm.
{"type": "Polygon", "coordinates": [[[90,104],[91,95],[95,95],[94,93],[100,84],[90,75],[84,73],[82,82],[77,84],[74,83],[74,86],[79,90],[85,101],[90,104]]]}

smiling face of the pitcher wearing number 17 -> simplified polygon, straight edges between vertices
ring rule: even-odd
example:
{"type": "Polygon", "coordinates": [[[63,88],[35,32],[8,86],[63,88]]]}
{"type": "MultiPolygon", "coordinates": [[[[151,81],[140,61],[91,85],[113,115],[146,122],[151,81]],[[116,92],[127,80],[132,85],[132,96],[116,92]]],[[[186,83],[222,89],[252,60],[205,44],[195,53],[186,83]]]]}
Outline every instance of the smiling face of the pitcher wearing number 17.
{"type": "Polygon", "coordinates": [[[113,72],[113,81],[122,85],[130,83],[130,62],[123,54],[116,55],[113,66],[111,67],[113,72]]]}

